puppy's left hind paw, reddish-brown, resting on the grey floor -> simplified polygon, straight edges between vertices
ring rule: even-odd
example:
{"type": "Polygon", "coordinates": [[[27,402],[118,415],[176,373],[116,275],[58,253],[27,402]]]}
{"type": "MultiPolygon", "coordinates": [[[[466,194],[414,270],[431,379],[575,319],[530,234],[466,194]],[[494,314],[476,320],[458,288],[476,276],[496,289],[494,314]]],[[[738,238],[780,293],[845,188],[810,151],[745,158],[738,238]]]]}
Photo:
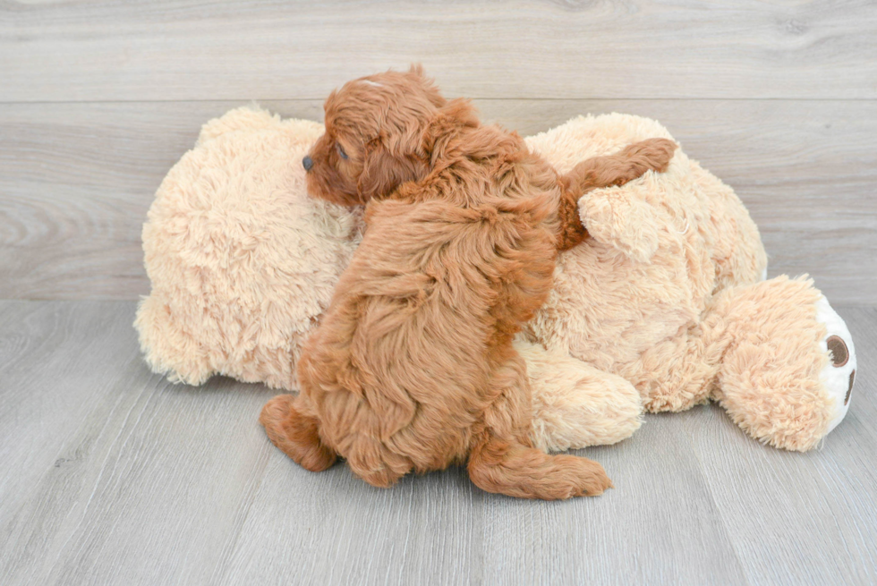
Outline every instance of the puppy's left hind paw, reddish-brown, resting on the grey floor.
{"type": "Polygon", "coordinates": [[[277,395],[262,407],[259,422],[271,443],[313,472],[335,463],[337,454],[319,438],[319,420],[307,413],[302,395],[277,395]]]}

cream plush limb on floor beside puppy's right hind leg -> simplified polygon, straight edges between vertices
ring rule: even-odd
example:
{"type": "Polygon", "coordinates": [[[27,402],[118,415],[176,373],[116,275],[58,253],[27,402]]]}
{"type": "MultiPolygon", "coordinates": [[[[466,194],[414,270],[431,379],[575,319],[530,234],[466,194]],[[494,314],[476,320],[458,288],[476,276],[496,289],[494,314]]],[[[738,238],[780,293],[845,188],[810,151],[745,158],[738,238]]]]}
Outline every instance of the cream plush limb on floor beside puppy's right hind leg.
{"type": "Polygon", "coordinates": [[[624,378],[566,353],[515,341],[532,387],[533,446],[549,452],[615,444],[643,422],[643,400],[624,378]]]}

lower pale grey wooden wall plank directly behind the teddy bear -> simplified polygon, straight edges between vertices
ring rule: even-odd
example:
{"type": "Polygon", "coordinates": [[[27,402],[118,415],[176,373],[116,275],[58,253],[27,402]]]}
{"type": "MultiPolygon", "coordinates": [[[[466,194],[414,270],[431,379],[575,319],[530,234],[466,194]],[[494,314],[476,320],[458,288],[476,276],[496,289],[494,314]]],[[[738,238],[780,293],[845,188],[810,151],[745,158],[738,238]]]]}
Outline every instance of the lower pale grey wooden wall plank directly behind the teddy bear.
{"type": "MultiPolygon", "coordinates": [[[[140,228],[200,124],[239,102],[0,105],[0,298],[149,293],[140,228]]],[[[582,113],[660,120],[737,190],[771,275],[809,272],[832,301],[877,290],[877,100],[478,100],[524,134],[582,113]]],[[[319,100],[268,102],[319,119],[319,100]]]]}

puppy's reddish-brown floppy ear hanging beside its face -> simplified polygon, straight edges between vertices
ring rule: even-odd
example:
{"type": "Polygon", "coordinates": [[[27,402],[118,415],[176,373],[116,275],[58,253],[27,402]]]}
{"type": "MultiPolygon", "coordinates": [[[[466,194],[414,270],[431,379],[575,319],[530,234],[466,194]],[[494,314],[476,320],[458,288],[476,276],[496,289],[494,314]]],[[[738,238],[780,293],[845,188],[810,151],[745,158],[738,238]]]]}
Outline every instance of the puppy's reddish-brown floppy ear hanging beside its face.
{"type": "Polygon", "coordinates": [[[365,146],[362,174],[356,183],[362,203],[383,198],[408,181],[416,181],[429,171],[421,158],[391,153],[381,138],[365,146]]]}

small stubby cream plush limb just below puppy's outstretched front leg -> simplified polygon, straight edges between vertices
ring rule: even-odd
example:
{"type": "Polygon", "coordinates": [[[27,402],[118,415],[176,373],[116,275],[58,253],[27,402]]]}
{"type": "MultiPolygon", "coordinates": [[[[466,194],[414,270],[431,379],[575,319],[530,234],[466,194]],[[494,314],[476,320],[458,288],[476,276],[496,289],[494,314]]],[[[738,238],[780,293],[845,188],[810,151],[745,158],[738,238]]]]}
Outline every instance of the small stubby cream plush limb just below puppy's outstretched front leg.
{"type": "Polygon", "coordinates": [[[658,251],[661,226],[668,225],[660,214],[624,187],[594,190],[579,200],[579,215],[594,240],[644,263],[658,251]]]}

